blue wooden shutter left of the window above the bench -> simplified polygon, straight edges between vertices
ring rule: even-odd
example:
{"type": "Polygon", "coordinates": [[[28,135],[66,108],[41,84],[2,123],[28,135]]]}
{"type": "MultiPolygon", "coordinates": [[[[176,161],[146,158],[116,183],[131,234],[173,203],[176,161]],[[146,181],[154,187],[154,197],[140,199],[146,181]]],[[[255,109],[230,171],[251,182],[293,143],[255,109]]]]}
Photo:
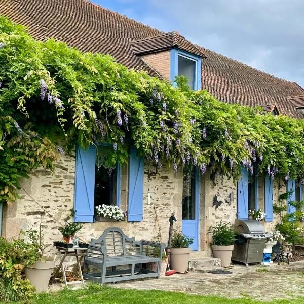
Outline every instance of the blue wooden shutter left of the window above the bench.
{"type": "Polygon", "coordinates": [[[93,222],[96,147],[77,148],[75,172],[75,222],[93,222]]]}

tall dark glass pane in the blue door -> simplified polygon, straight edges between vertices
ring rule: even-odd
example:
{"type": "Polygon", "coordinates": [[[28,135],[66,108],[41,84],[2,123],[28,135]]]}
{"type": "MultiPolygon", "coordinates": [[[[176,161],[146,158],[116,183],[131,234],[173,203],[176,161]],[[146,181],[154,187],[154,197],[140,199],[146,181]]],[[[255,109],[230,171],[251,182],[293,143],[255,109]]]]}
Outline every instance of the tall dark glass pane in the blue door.
{"type": "Polygon", "coordinates": [[[185,172],[182,187],[182,219],[195,219],[195,172],[185,172]]]}

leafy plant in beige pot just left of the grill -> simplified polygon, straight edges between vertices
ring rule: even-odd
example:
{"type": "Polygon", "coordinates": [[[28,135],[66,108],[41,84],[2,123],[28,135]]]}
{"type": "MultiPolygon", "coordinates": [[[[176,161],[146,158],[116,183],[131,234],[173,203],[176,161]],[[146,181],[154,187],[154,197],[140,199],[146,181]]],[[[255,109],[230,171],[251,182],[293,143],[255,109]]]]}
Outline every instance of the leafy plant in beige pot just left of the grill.
{"type": "Polygon", "coordinates": [[[215,226],[211,226],[209,232],[212,233],[213,257],[220,258],[222,267],[229,267],[236,238],[234,228],[230,223],[220,221],[215,226]]]}

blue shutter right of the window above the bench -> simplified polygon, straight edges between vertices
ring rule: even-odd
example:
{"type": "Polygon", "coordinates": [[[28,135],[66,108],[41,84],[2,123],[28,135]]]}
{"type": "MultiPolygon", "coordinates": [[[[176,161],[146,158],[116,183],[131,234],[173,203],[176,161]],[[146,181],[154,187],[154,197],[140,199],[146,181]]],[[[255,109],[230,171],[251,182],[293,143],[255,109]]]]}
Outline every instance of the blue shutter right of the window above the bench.
{"type": "Polygon", "coordinates": [[[128,221],[142,221],[143,211],[143,158],[130,149],[128,221]]]}

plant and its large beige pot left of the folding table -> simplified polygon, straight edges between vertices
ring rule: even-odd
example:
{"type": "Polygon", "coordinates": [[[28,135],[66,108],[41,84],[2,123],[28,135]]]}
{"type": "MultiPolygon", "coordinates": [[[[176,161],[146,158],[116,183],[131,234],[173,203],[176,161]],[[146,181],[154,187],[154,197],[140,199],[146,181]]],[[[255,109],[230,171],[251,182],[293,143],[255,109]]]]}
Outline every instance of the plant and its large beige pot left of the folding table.
{"type": "Polygon", "coordinates": [[[21,233],[25,237],[23,248],[25,277],[36,287],[37,291],[46,291],[55,267],[55,259],[44,255],[45,246],[41,230],[38,233],[36,230],[29,229],[21,233]]]}

